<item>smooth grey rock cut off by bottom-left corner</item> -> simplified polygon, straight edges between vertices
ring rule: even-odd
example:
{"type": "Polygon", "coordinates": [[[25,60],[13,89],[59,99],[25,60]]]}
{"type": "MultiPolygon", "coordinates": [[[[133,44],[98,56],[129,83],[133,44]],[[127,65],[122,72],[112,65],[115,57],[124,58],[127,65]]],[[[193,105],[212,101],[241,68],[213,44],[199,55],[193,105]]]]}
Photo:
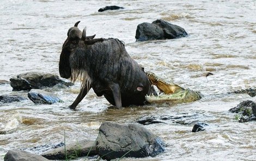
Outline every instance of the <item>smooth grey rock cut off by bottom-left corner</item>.
{"type": "Polygon", "coordinates": [[[46,161],[48,159],[26,151],[9,150],[4,156],[4,161],[46,161]]]}

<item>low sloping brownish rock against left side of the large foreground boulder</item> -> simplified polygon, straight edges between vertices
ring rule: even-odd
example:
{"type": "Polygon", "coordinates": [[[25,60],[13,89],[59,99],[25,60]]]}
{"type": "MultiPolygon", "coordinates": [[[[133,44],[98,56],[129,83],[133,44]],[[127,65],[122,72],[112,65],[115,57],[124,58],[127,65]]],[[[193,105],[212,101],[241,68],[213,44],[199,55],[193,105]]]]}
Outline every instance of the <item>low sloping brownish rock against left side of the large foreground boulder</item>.
{"type": "Polygon", "coordinates": [[[41,156],[54,160],[54,159],[65,159],[67,156],[72,157],[84,157],[84,156],[95,156],[96,153],[96,146],[95,141],[89,140],[81,140],[77,141],[76,143],[66,145],[66,152],[65,147],[57,147],[53,150],[46,151],[41,154],[41,156]]]}

